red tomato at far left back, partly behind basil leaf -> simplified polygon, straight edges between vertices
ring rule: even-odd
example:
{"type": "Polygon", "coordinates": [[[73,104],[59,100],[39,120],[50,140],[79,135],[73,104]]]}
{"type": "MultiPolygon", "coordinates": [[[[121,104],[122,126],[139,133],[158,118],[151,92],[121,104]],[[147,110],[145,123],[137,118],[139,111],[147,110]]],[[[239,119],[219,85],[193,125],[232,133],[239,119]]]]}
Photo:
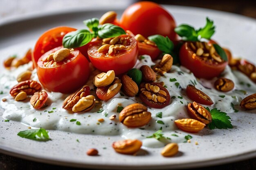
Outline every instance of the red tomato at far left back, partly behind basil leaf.
{"type": "Polygon", "coordinates": [[[58,26],[44,32],[34,47],[32,55],[34,68],[37,67],[38,59],[47,51],[61,46],[64,35],[71,31],[76,31],[76,29],[67,26],[58,26]]]}

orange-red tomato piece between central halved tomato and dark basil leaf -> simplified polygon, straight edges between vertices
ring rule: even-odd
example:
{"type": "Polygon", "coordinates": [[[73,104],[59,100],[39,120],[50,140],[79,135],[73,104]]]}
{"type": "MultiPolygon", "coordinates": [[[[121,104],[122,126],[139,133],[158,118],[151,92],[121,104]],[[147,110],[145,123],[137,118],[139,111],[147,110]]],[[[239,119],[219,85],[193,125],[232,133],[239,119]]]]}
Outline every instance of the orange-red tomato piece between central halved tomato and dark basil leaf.
{"type": "Polygon", "coordinates": [[[139,55],[149,55],[152,60],[156,60],[159,54],[161,53],[157,46],[143,44],[141,42],[137,43],[139,47],[139,55]]]}

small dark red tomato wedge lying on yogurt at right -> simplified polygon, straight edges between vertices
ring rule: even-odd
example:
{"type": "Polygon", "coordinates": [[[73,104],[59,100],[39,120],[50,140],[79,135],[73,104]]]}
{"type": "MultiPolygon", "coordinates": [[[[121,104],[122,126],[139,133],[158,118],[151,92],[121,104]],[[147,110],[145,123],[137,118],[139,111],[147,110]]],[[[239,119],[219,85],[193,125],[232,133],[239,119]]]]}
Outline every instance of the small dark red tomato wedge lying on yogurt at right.
{"type": "Polygon", "coordinates": [[[205,104],[205,105],[212,105],[213,101],[211,98],[206,95],[204,92],[195,88],[195,86],[189,84],[186,86],[186,95],[193,100],[194,102],[205,104]]]}

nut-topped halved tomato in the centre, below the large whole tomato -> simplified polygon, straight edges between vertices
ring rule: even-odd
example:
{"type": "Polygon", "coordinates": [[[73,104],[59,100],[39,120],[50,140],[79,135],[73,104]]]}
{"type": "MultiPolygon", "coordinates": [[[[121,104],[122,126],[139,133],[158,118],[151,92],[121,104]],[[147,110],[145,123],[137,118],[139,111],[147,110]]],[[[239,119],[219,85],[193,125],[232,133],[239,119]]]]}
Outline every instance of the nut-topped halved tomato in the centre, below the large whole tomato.
{"type": "Polygon", "coordinates": [[[126,46],[126,50],[119,51],[114,55],[109,55],[108,51],[98,52],[102,40],[90,43],[88,56],[93,66],[104,72],[114,70],[116,75],[120,75],[136,64],[138,56],[137,41],[130,35],[120,35],[119,38],[127,38],[127,42],[122,44],[126,46]]]}

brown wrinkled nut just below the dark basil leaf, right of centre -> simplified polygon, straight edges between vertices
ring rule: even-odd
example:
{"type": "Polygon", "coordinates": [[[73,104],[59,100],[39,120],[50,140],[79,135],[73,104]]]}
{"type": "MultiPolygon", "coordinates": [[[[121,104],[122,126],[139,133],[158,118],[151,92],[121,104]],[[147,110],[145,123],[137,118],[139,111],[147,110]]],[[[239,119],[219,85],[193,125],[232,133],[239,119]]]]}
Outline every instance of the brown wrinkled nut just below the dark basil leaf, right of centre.
{"type": "Polygon", "coordinates": [[[164,73],[171,70],[172,66],[173,57],[170,54],[165,54],[162,60],[153,67],[153,70],[160,75],[164,75],[164,73]]]}

